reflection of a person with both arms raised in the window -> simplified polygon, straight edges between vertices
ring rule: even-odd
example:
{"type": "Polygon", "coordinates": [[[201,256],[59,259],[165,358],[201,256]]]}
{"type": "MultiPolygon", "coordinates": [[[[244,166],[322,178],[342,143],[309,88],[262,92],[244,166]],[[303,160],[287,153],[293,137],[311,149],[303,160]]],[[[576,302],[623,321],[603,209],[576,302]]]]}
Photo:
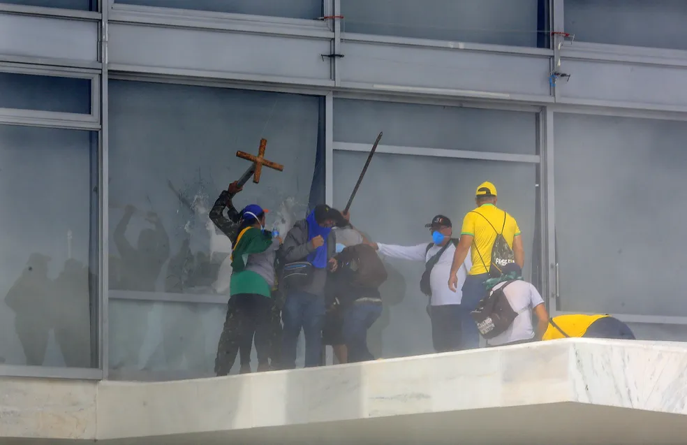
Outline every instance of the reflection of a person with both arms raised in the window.
{"type": "MultiPolygon", "coordinates": [[[[131,217],[137,212],[133,205],[124,209],[124,217],[114,228],[114,245],[121,258],[120,288],[124,291],[154,292],[155,283],[162,266],[170,255],[170,240],[160,218],[155,212],[148,212],[145,219],[153,228],[144,228],[138,235],[134,248],[125,233],[131,217]]],[[[113,343],[123,354],[113,369],[121,367],[138,368],[141,347],[148,330],[148,316],[152,305],[112,305],[112,316],[121,326],[113,330],[113,343]]]]}

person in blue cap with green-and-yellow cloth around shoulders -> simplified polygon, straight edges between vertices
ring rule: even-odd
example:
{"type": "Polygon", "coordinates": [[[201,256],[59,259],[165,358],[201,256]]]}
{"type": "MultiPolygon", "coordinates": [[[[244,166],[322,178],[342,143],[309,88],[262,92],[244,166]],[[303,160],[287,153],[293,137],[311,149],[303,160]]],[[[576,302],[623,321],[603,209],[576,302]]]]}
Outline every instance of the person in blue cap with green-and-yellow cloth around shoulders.
{"type": "MultiPolygon", "coordinates": [[[[269,321],[274,285],[274,260],[281,239],[265,231],[265,213],[256,204],[239,213],[236,238],[232,239],[230,298],[224,328],[219,337],[215,373],[229,374],[242,345],[255,335],[258,363],[269,351],[269,321]]],[[[263,360],[261,360],[263,358],[263,360]]]]}

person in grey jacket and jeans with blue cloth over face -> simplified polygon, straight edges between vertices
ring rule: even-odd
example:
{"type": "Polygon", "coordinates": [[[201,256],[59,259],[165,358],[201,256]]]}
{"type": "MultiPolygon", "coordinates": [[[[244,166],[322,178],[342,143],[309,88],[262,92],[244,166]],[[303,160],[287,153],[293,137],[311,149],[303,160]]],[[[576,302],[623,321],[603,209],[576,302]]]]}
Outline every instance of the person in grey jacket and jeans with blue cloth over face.
{"type": "Polygon", "coordinates": [[[284,238],[279,253],[284,263],[279,285],[286,293],[281,309],[283,369],[296,366],[301,329],[305,335],[305,366],[321,365],[327,271],[337,267],[332,228],[347,225],[348,220],[339,210],[320,204],[306,219],[296,221],[284,238]]]}

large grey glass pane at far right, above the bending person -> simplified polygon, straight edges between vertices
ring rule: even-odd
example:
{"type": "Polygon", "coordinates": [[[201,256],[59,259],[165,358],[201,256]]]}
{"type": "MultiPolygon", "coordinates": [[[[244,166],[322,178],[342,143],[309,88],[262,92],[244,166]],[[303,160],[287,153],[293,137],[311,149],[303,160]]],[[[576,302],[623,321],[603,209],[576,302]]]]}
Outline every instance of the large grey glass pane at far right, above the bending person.
{"type": "Polygon", "coordinates": [[[686,123],[556,114],[554,132],[560,309],[687,316],[686,123]]]}

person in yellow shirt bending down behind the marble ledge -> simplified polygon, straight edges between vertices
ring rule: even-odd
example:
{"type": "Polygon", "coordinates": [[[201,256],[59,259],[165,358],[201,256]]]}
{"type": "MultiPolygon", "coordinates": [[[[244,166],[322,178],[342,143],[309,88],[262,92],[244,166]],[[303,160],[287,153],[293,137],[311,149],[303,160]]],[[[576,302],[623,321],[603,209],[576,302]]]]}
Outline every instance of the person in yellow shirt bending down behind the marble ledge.
{"type": "Polygon", "coordinates": [[[630,327],[610,315],[566,314],[549,319],[549,327],[542,340],[566,337],[635,340],[630,327]]]}

